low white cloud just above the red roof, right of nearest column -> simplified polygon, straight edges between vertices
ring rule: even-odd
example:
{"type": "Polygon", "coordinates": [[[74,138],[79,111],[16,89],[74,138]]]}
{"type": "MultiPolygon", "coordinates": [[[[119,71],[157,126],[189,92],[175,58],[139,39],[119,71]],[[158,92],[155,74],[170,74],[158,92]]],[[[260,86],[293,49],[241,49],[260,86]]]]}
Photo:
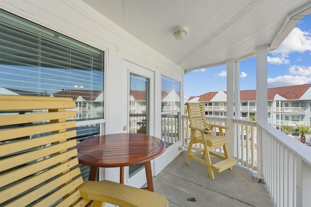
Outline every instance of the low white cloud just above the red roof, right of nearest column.
{"type": "Polygon", "coordinates": [[[289,86],[289,85],[301,85],[301,84],[307,84],[310,82],[311,82],[311,78],[306,77],[306,76],[285,75],[285,76],[278,76],[273,79],[269,78],[268,88],[282,87],[282,86],[289,86]]]}

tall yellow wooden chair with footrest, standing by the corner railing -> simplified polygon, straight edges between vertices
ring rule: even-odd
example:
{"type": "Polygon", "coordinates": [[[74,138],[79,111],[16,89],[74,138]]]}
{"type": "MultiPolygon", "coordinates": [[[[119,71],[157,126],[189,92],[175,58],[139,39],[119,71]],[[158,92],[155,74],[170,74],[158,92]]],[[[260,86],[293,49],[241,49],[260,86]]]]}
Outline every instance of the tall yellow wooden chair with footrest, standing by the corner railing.
{"type": "Polygon", "coordinates": [[[236,160],[229,158],[226,143],[229,141],[228,138],[224,135],[224,130],[229,127],[208,124],[205,117],[205,104],[204,103],[186,103],[190,129],[191,129],[191,138],[189,142],[188,152],[186,155],[186,164],[189,163],[189,159],[192,158],[208,168],[209,177],[215,179],[213,170],[220,173],[226,169],[232,170],[232,167],[236,164],[236,160]],[[215,135],[215,130],[219,130],[219,136],[215,135]],[[192,152],[192,146],[195,143],[201,143],[203,145],[202,150],[192,152]],[[210,149],[216,147],[223,147],[224,156],[217,153],[211,152],[210,149]],[[203,158],[200,159],[195,155],[203,153],[203,158]],[[215,164],[211,163],[210,155],[213,155],[217,158],[223,159],[220,162],[215,164]]]}

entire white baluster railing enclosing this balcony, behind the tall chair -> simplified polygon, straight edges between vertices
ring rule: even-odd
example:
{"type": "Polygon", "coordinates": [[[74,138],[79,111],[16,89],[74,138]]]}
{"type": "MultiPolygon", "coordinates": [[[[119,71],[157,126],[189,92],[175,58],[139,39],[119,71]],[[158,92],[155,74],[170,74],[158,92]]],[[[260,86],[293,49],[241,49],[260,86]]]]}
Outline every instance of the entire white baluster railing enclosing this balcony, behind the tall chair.
{"type": "MultiPolygon", "coordinates": [[[[226,125],[224,118],[208,117],[210,122],[226,125]]],[[[268,124],[233,119],[234,158],[258,172],[276,207],[310,206],[311,147],[302,144],[268,124]]],[[[190,131],[188,116],[184,116],[185,147],[190,131]]],[[[227,132],[226,132],[227,133],[227,132]]],[[[228,135],[229,136],[229,135],[228,135]]],[[[192,150],[202,149],[199,144],[192,150]]],[[[216,149],[222,153],[222,149],[216,149]]]]}

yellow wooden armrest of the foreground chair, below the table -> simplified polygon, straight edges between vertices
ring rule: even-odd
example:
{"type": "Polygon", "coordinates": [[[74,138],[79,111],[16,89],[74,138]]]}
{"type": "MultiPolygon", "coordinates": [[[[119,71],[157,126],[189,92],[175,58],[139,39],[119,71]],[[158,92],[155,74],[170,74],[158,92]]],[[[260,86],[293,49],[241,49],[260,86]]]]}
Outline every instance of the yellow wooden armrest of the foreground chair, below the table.
{"type": "Polygon", "coordinates": [[[120,183],[84,181],[77,188],[81,197],[123,207],[168,207],[168,201],[159,193],[138,189],[120,183]]]}

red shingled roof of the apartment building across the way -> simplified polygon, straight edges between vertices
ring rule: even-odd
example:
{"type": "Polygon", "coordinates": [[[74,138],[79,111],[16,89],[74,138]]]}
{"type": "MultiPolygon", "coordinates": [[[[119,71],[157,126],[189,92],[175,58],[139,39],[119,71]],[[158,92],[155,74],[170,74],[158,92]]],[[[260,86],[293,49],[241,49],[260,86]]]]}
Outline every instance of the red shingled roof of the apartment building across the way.
{"type": "MultiPolygon", "coordinates": [[[[284,86],[277,88],[268,88],[268,100],[273,100],[276,94],[288,99],[288,100],[296,100],[299,99],[306,91],[311,87],[311,84],[304,85],[292,85],[292,86],[284,86]]],[[[218,92],[208,92],[201,96],[191,96],[188,100],[191,100],[195,97],[199,97],[199,101],[210,101],[218,92]]],[[[226,91],[224,92],[227,93],[226,91]]],[[[256,90],[244,90],[240,91],[240,100],[256,100],[256,90]]]]}

